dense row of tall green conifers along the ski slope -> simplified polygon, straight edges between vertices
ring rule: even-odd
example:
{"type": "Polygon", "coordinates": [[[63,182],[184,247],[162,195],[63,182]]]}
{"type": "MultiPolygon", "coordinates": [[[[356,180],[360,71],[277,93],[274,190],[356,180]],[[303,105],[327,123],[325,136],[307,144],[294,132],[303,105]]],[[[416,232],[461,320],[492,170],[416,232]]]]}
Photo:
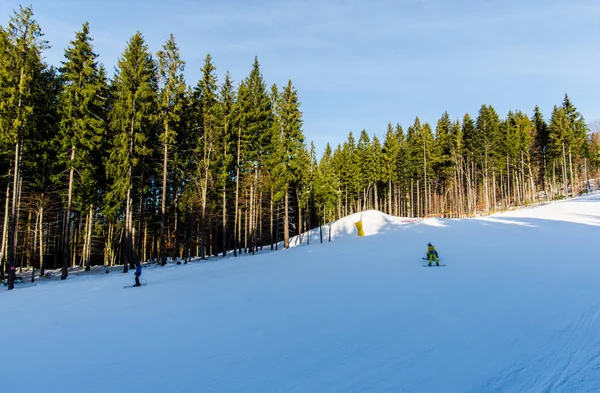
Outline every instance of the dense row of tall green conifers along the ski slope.
{"type": "Polygon", "coordinates": [[[207,55],[192,87],[173,36],[153,56],[136,33],[112,78],[87,23],[58,68],[47,47],[31,8],[0,27],[9,288],[23,267],[65,279],[76,265],[237,256],[365,209],[462,217],[569,197],[598,177],[600,138],[566,95],[548,120],[484,105],[435,128],[390,124],[382,141],[350,133],[318,159],[298,92],[268,87],[258,59],[236,84],[207,55]]]}

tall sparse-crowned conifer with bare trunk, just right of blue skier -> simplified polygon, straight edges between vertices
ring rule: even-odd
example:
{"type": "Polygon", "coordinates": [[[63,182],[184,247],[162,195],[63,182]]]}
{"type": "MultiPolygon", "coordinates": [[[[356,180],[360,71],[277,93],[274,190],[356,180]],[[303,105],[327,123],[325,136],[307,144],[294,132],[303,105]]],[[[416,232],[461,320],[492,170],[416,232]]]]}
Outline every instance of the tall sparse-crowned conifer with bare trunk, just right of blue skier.
{"type": "Polygon", "coordinates": [[[158,110],[163,128],[159,138],[163,146],[160,263],[164,266],[167,263],[165,228],[167,225],[167,189],[169,188],[169,149],[175,144],[178,131],[181,127],[181,112],[183,110],[186,86],[183,77],[185,62],[181,60],[179,48],[172,34],[169,40],[163,45],[163,49],[157,53],[157,56],[158,80],[160,84],[158,110]]]}

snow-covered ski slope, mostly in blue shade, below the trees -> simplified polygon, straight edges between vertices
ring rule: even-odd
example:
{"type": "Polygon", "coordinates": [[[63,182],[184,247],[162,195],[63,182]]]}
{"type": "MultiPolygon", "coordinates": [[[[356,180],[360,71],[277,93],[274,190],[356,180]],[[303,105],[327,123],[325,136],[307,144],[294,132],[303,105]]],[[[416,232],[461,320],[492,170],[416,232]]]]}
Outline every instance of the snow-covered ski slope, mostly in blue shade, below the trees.
{"type": "MultiPolygon", "coordinates": [[[[0,287],[3,392],[600,392],[600,195],[0,287]],[[443,268],[424,268],[432,242],[443,268]]],[[[27,280],[25,280],[27,281],[27,280]]]]}

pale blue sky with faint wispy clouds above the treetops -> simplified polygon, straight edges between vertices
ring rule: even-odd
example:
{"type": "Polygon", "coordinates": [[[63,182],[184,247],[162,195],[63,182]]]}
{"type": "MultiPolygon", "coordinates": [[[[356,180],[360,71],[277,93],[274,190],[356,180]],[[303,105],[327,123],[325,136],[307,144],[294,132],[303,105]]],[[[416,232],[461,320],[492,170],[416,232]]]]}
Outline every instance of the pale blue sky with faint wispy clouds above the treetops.
{"type": "Polygon", "coordinates": [[[598,0],[0,0],[1,25],[31,4],[58,65],[90,22],[112,70],[140,30],[153,53],[175,35],[195,85],[207,53],[236,82],[258,56],[268,85],[291,79],[307,142],[318,152],[349,131],[382,137],[388,122],[435,125],[482,104],[545,117],[564,93],[587,121],[600,119],[598,0]]]}

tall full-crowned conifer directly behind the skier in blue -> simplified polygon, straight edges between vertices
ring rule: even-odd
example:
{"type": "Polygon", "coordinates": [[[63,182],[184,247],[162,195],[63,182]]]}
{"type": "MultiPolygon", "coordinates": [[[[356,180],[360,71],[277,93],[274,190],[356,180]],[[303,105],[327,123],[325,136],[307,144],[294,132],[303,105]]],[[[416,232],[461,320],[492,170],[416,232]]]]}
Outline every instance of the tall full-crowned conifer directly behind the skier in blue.
{"type": "Polygon", "coordinates": [[[118,73],[113,83],[115,98],[110,120],[116,135],[107,165],[107,174],[112,180],[108,198],[112,199],[116,209],[125,201],[123,271],[126,273],[128,265],[134,261],[132,192],[137,179],[143,186],[142,164],[152,152],[149,143],[157,107],[156,64],[141,33],[129,40],[118,61],[118,73]]]}

